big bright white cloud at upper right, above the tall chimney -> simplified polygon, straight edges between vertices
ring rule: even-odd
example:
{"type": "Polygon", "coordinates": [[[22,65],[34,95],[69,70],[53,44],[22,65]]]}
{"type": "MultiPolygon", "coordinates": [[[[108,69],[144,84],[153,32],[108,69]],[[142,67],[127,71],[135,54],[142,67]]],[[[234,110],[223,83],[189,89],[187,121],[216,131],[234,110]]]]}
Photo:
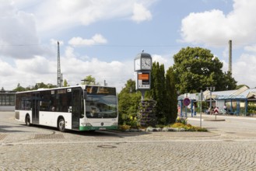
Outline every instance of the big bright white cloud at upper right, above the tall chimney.
{"type": "Polygon", "coordinates": [[[234,0],[233,11],[225,15],[218,9],[192,12],[181,23],[184,42],[223,46],[228,40],[237,45],[256,43],[256,1],[234,0]]]}

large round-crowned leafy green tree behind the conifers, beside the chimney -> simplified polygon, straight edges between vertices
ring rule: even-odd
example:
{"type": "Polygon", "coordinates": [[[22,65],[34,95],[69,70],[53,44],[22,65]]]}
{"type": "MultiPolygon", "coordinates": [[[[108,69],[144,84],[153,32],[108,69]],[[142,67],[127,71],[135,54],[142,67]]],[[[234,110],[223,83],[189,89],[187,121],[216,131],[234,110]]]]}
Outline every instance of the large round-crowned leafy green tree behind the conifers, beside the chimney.
{"type": "Polygon", "coordinates": [[[174,55],[176,89],[181,93],[200,92],[209,86],[216,91],[236,87],[231,74],[223,73],[223,63],[211,51],[201,47],[182,48],[174,55]],[[230,82],[231,81],[231,82],[230,82]]]}

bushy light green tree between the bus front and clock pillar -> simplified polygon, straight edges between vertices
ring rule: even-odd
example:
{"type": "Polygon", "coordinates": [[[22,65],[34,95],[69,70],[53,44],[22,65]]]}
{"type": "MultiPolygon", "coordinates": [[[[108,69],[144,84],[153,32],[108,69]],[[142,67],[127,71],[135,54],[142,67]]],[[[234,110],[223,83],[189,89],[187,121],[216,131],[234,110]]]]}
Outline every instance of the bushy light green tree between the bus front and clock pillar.
{"type": "Polygon", "coordinates": [[[141,93],[135,92],[135,81],[129,79],[118,94],[119,124],[129,124],[130,117],[137,116],[141,98],[141,93]]]}

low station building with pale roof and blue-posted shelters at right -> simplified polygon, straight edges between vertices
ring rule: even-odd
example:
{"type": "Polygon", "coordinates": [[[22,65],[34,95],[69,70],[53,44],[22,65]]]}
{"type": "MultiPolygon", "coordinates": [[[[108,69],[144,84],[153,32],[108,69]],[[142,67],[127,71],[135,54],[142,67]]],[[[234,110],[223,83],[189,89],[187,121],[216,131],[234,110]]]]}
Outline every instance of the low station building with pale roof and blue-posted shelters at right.
{"type": "Polygon", "coordinates": [[[200,112],[202,106],[202,113],[207,113],[206,111],[209,110],[210,104],[212,104],[212,107],[218,106],[219,111],[222,111],[223,106],[226,105],[227,114],[229,115],[256,117],[256,89],[249,89],[247,86],[218,92],[205,90],[202,92],[202,98],[200,92],[180,95],[178,96],[178,106],[181,109],[178,111],[179,114],[185,111],[183,105],[185,97],[191,99],[188,113],[193,109],[193,105],[197,106],[198,112],[200,112]]]}

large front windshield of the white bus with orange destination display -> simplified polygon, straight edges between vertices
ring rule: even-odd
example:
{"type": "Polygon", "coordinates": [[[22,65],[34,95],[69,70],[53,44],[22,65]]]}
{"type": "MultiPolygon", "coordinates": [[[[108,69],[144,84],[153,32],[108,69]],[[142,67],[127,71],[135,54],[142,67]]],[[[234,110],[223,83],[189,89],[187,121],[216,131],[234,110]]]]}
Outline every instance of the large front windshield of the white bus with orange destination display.
{"type": "Polygon", "coordinates": [[[117,117],[117,96],[115,89],[87,86],[86,92],[87,118],[117,117]],[[94,89],[97,89],[97,91],[94,89]],[[101,90],[99,91],[99,89],[101,90]]]}

